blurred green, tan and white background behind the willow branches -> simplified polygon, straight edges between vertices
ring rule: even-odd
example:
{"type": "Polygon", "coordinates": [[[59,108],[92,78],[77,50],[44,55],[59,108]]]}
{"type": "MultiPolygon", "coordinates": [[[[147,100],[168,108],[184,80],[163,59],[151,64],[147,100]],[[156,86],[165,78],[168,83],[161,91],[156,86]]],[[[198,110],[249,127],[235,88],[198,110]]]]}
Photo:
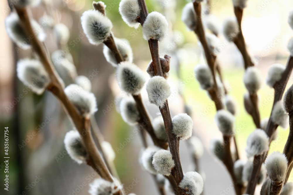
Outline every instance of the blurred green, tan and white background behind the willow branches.
{"type": "MultiPolygon", "coordinates": [[[[106,15],[113,23],[113,34],[127,39],[134,53],[134,63],[146,70],[151,55],[147,41],[142,38],[142,29],[128,27],[118,12],[119,0],[105,0],[106,15]]],[[[163,13],[169,22],[168,38],[160,45],[160,54],[171,56],[171,68],[168,82],[172,95],[169,98],[171,115],[184,112],[184,102],[192,109],[194,121],[193,134],[204,145],[204,155],[200,159],[202,175],[205,177],[205,194],[234,194],[231,179],[223,164],[209,151],[209,142],[221,133],[214,123],[216,112],[214,103],[207,93],[200,89],[193,75],[193,68],[204,63],[202,49],[194,32],[187,30],[181,21],[182,8],[189,1],[146,0],[148,11],[163,13]]],[[[103,56],[103,45],[94,46],[88,42],[81,28],[80,17],[92,9],[90,0],[43,0],[37,7],[29,8],[30,14],[37,21],[44,15],[52,15],[54,23],[63,23],[70,30],[67,46],[62,51],[69,52],[79,75],[91,80],[98,111],[95,113],[100,131],[115,151],[115,166],[118,175],[129,189],[128,193],[138,195],[158,194],[149,173],[139,165],[139,152],[142,141],[135,130],[127,125],[116,111],[115,97],[123,95],[115,79],[115,69],[103,56]],[[133,182],[136,181],[136,182],[133,182]]],[[[208,5],[208,4],[207,4],[208,5]]],[[[248,1],[244,9],[242,29],[249,53],[262,73],[264,84],[259,91],[261,119],[269,117],[274,97],[273,89],[265,85],[267,70],[273,63],[286,64],[289,52],[287,42],[293,35],[287,18],[293,8],[289,0],[248,1]]],[[[21,58],[33,57],[30,49],[23,50],[8,38],[4,19],[11,12],[7,1],[0,2],[0,132],[1,159],[4,159],[4,127],[9,127],[9,191],[4,191],[4,160],[0,161],[0,194],[88,194],[89,183],[97,178],[92,168],[78,165],[65,152],[63,140],[72,125],[57,99],[45,92],[38,96],[25,87],[16,77],[16,62],[21,58]],[[65,154],[64,154],[65,153],[65,154]],[[78,186],[86,182],[81,190],[78,186]]],[[[210,0],[209,6],[203,7],[203,20],[214,15],[219,33],[218,62],[222,66],[224,82],[228,92],[238,103],[236,115],[236,141],[242,159],[248,134],[255,129],[253,120],[243,106],[243,60],[234,43],[228,43],[221,31],[223,20],[234,17],[231,0],[210,0]],[[209,10],[209,14],[207,14],[209,10]]],[[[60,49],[52,28],[44,27],[47,34],[45,44],[50,54],[60,49]]],[[[146,77],[149,76],[146,73],[146,77]]],[[[290,77],[288,85],[293,83],[290,77]]],[[[144,103],[152,117],[159,109],[148,103],[146,90],[142,90],[144,103]]],[[[280,128],[280,127],[279,127],[280,128]]],[[[283,151],[288,136],[288,129],[279,129],[278,137],[272,142],[270,152],[283,151]]],[[[148,138],[149,144],[151,139],[148,138]]],[[[193,161],[185,141],[180,142],[180,156],[183,170],[193,170],[193,161]]],[[[292,177],[289,180],[293,180],[292,177]]],[[[259,193],[259,187],[256,194],[259,193]]]]}

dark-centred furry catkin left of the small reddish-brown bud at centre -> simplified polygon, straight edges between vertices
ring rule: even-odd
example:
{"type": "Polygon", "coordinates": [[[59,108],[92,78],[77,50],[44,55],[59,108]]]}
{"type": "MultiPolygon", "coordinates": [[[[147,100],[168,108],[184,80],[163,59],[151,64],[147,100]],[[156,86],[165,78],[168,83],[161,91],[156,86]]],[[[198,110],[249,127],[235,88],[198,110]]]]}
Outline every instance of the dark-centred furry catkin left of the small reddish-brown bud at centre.
{"type": "Polygon", "coordinates": [[[116,77],[120,88],[130,94],[139,94],[146,82],[142,70],[137,65],[127,61],[119,64],[116,77]]]}

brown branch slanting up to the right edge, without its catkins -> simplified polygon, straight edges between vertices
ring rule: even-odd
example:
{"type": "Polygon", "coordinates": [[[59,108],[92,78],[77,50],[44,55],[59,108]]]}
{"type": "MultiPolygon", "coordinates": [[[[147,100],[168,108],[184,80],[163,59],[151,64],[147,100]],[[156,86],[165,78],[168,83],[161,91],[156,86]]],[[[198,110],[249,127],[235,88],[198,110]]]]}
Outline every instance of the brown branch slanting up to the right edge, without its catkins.
{"type": "MultiPolygon", "coordinates": [[[[287,82],[289,80],[289,77],[292,73],[292,68],[293,68],[293,57],[289,56],[288,61],[287,61],[287,65],[286,65],[284,73],[282,74],[281,80],[279,82],[276,82],[273,86],[275,89],[275,96],[274,96],[274,102],[273,102],[272,109],[274,108],[275,104],[282,99],[283,93],[285,91],[285,87],[286,87],[287,82]]],[[[268,135],[268,137],[270,137],[270,142],[272,141],[272,134],[274,134],[277,127],[278,127],[278,125],[272,121],[272,112],[271,112],[268,125],[265,128],[266,134],[268,135]]],[[[265,161],[267,154],[268,154],[268,152],[266,152],[263,155],[254,157],[253,170],[252,170],[250,179],[248,181],[248,185],[246,188],[246,194],[251,194],[251,195],[254,194],[255,187],[256,187],[259,173],[260,173],[260,167],[261,167],[262,163],[265,161]]]]}

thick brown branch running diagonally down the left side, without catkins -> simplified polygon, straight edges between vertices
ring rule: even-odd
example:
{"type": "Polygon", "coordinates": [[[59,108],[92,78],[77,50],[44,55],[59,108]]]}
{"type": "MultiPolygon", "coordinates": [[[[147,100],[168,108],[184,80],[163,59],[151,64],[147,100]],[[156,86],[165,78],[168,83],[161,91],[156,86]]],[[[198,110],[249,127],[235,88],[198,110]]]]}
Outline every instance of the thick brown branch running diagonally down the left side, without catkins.
{"type": "Polygon", "coordinates": [[[47,90],[51,91],[62,103],[65,111],[70,116],[72,122],[74,123],[76,129],[79,131],[82,137],[86,151],[88,153],[87,163],[91,165],[102,178],[113,182],[113,178],[108,168],[106,167],[102,157],[98,153],[98,149],[94,144],[93,137],[91,136],[90,120],[88,118],[82,117],[77,112],[74,105],[70,101],[68,101],[68,98],[63,89],[64,84],[56,73],[56,70],[54,69],[52,62],[50,61],[44,45],[36,38],[33,28],[30,24],[30,18],[26,9],[17,7],[15,7],[15,9],[25,33],[29,36],[33,35],[35,37],[34,39],[30,40],[30,44],[32,45],[33,50],[38,54],[40,61],[50,75],[51,83],[47,87],[47,90]]]}

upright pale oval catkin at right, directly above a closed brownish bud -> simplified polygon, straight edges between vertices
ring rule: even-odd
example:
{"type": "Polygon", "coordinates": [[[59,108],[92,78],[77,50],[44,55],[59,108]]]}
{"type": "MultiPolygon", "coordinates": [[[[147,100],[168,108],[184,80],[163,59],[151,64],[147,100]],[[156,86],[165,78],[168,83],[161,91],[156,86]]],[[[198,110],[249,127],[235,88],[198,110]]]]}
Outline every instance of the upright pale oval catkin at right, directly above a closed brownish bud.
{"type": "Polygon", "coordinates": [[[248,67],[244,73],[243,81],[250,94],[256,93],[261,86],[261,75],[259,70],[254,66],[248,67]]]}

